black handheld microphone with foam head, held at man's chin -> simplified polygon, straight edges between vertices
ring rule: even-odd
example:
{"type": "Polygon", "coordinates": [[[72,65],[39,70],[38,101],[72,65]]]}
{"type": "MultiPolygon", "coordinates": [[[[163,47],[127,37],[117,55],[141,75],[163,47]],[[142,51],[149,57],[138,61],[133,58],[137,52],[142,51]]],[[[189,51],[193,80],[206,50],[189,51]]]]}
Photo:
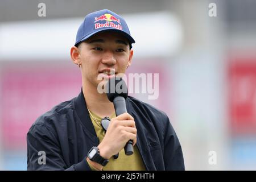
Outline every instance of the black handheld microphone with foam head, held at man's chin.
{"type": "MultiPolygon", "coordinates": [[[[107,96],[115,107],[115,115],[127,113],[125,100],[128,96],[128,90],[125,81],[121,77],[112,77],[106,84],[107,96]]],[[[125,154],[133,154],[133,140],[129,140],[125,145],[125,154]]]]}

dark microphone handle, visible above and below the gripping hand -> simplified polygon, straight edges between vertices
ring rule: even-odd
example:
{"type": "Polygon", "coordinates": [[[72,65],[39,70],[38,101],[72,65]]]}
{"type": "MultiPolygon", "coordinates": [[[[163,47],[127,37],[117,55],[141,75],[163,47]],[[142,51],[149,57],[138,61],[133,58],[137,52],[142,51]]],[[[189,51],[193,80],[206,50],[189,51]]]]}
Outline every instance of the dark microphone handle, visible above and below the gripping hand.
{"type": "MultiPolygon", "coordinates": [[[[125,98],[121,96],[117,96],[113,100],[114,107],[115,107],[115,115],[120,115],[123,113],[127,113],[126,105],[125,105],[125,98]]],[[[129,140],[125,145],[125,155],[132,155],[133,154],[133,140],[129,140]]]]}

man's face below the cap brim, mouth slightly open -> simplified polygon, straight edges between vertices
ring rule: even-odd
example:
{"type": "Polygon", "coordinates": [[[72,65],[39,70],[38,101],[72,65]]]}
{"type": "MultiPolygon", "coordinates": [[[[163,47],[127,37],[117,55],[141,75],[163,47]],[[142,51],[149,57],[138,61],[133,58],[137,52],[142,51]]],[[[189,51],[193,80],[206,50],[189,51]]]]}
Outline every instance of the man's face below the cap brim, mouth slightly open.
{"type": "Polygon", "coordinates": [[[96,34],[82,42],[79,49],[83,80],[96,87],[102,81],[98,76],[106,80],[125,73],[133,57],[128,40],[117,32],[96,34]]]}

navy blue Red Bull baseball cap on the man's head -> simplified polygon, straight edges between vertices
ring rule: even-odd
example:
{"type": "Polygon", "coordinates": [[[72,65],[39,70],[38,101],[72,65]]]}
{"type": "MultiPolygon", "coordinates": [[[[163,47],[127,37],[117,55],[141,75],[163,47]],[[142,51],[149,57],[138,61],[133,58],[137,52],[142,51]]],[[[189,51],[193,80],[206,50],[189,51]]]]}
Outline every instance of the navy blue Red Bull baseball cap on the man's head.
{"type": "Polygon", "coordinates": [[[75,46],[98,32],[103,31],[120,32],[129,40],[130,44],[135,43],[135,40],[130,35],[125,19],[113,11],[105,9],[85,16],[84,22],[82,22],[77,31],[75,46]]]}

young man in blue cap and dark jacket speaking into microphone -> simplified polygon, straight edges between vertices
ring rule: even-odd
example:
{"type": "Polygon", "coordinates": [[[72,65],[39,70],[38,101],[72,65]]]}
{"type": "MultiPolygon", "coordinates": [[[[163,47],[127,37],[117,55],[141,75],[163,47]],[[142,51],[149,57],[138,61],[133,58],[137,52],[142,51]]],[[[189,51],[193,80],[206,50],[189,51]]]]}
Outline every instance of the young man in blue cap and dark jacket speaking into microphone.
{"type": "Polygon", "coordinates": [[[97,90],[98,76],[108,79],[130,67],[133,43],[125,20],[112,11],[85,17],[71,48],[81,70],[81,93],[31,126],[28,170],[184,170],[179,140],[163,111],[128,96],[127,113],[116,117],[113,102],[97,90]],[[105,132],[101,119],[106,116],[112,119],[105,132]],[[129,140],[133,155],[123,150],[129,140]]]}

